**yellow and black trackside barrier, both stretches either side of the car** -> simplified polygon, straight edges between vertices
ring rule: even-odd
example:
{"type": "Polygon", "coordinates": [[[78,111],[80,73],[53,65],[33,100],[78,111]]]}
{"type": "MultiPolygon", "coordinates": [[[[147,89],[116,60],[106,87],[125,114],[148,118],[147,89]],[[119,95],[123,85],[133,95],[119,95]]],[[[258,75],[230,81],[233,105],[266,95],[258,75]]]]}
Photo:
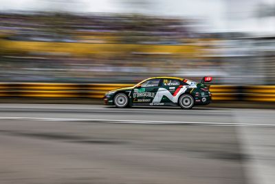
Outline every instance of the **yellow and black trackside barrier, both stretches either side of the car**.
{"type": "MultiPolygon", "coordinates": [[[[0,97],[92,98],[133,84],[113,83],[0,83],[0,97]]],[[[213,101],[275,102],[275,85],[210,85],[213,101]]]]}

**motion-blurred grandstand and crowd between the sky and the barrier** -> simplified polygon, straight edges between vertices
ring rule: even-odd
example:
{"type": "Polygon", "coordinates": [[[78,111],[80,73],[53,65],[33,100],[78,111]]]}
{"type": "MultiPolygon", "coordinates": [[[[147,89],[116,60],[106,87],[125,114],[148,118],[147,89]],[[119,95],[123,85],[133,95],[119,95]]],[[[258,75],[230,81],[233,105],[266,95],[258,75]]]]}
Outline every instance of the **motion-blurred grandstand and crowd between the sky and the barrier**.
{"type": "Polygon", "coordinates": [[[0,13],[3,82],[135,83],[181,76],[275,83],[275,37],[203,33],[199,21],[141,14],[0,13]]]}

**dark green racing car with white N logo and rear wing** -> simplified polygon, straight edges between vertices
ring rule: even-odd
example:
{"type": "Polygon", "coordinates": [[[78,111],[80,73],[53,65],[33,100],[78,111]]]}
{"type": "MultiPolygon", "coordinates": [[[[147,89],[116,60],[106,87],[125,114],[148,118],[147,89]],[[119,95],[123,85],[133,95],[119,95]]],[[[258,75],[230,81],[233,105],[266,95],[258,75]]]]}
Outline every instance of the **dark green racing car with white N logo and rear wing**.
{"type": "Polygon", "coordinates": [[[204,76],[201,83],[179,77],[159,76],[145,79],[129,88],[120,88],[104,95],[105,105],[117,108],[133,105],[179,105],[191,109],[194,105],[208,105],[211,101],[209,85],[211,76],[204,76]]]}

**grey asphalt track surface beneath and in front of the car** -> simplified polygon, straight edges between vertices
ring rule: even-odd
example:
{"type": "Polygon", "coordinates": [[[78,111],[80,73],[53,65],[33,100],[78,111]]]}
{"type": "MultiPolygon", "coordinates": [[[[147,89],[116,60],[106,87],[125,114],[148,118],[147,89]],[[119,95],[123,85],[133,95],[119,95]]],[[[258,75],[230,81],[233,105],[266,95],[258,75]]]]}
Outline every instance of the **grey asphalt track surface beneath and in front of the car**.
{"type": "Polygon", "coordinates": [[[0,104],[0,183],[274,183],[274,112],[0,104]]]}

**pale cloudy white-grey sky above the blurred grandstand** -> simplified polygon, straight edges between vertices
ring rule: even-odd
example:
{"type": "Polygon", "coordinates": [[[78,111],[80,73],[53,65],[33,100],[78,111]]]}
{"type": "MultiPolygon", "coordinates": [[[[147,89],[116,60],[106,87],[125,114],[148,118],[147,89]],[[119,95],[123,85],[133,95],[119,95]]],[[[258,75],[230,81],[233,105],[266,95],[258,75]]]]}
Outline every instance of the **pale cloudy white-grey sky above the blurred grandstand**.
{"type": "Polygon", "coordinates": [[[210,32],[272,34],[275,18],[256,17],[259,3],[275,7],[275,0],[0,0],[0,11],[135,12],[200,19],[210,32]]]}

